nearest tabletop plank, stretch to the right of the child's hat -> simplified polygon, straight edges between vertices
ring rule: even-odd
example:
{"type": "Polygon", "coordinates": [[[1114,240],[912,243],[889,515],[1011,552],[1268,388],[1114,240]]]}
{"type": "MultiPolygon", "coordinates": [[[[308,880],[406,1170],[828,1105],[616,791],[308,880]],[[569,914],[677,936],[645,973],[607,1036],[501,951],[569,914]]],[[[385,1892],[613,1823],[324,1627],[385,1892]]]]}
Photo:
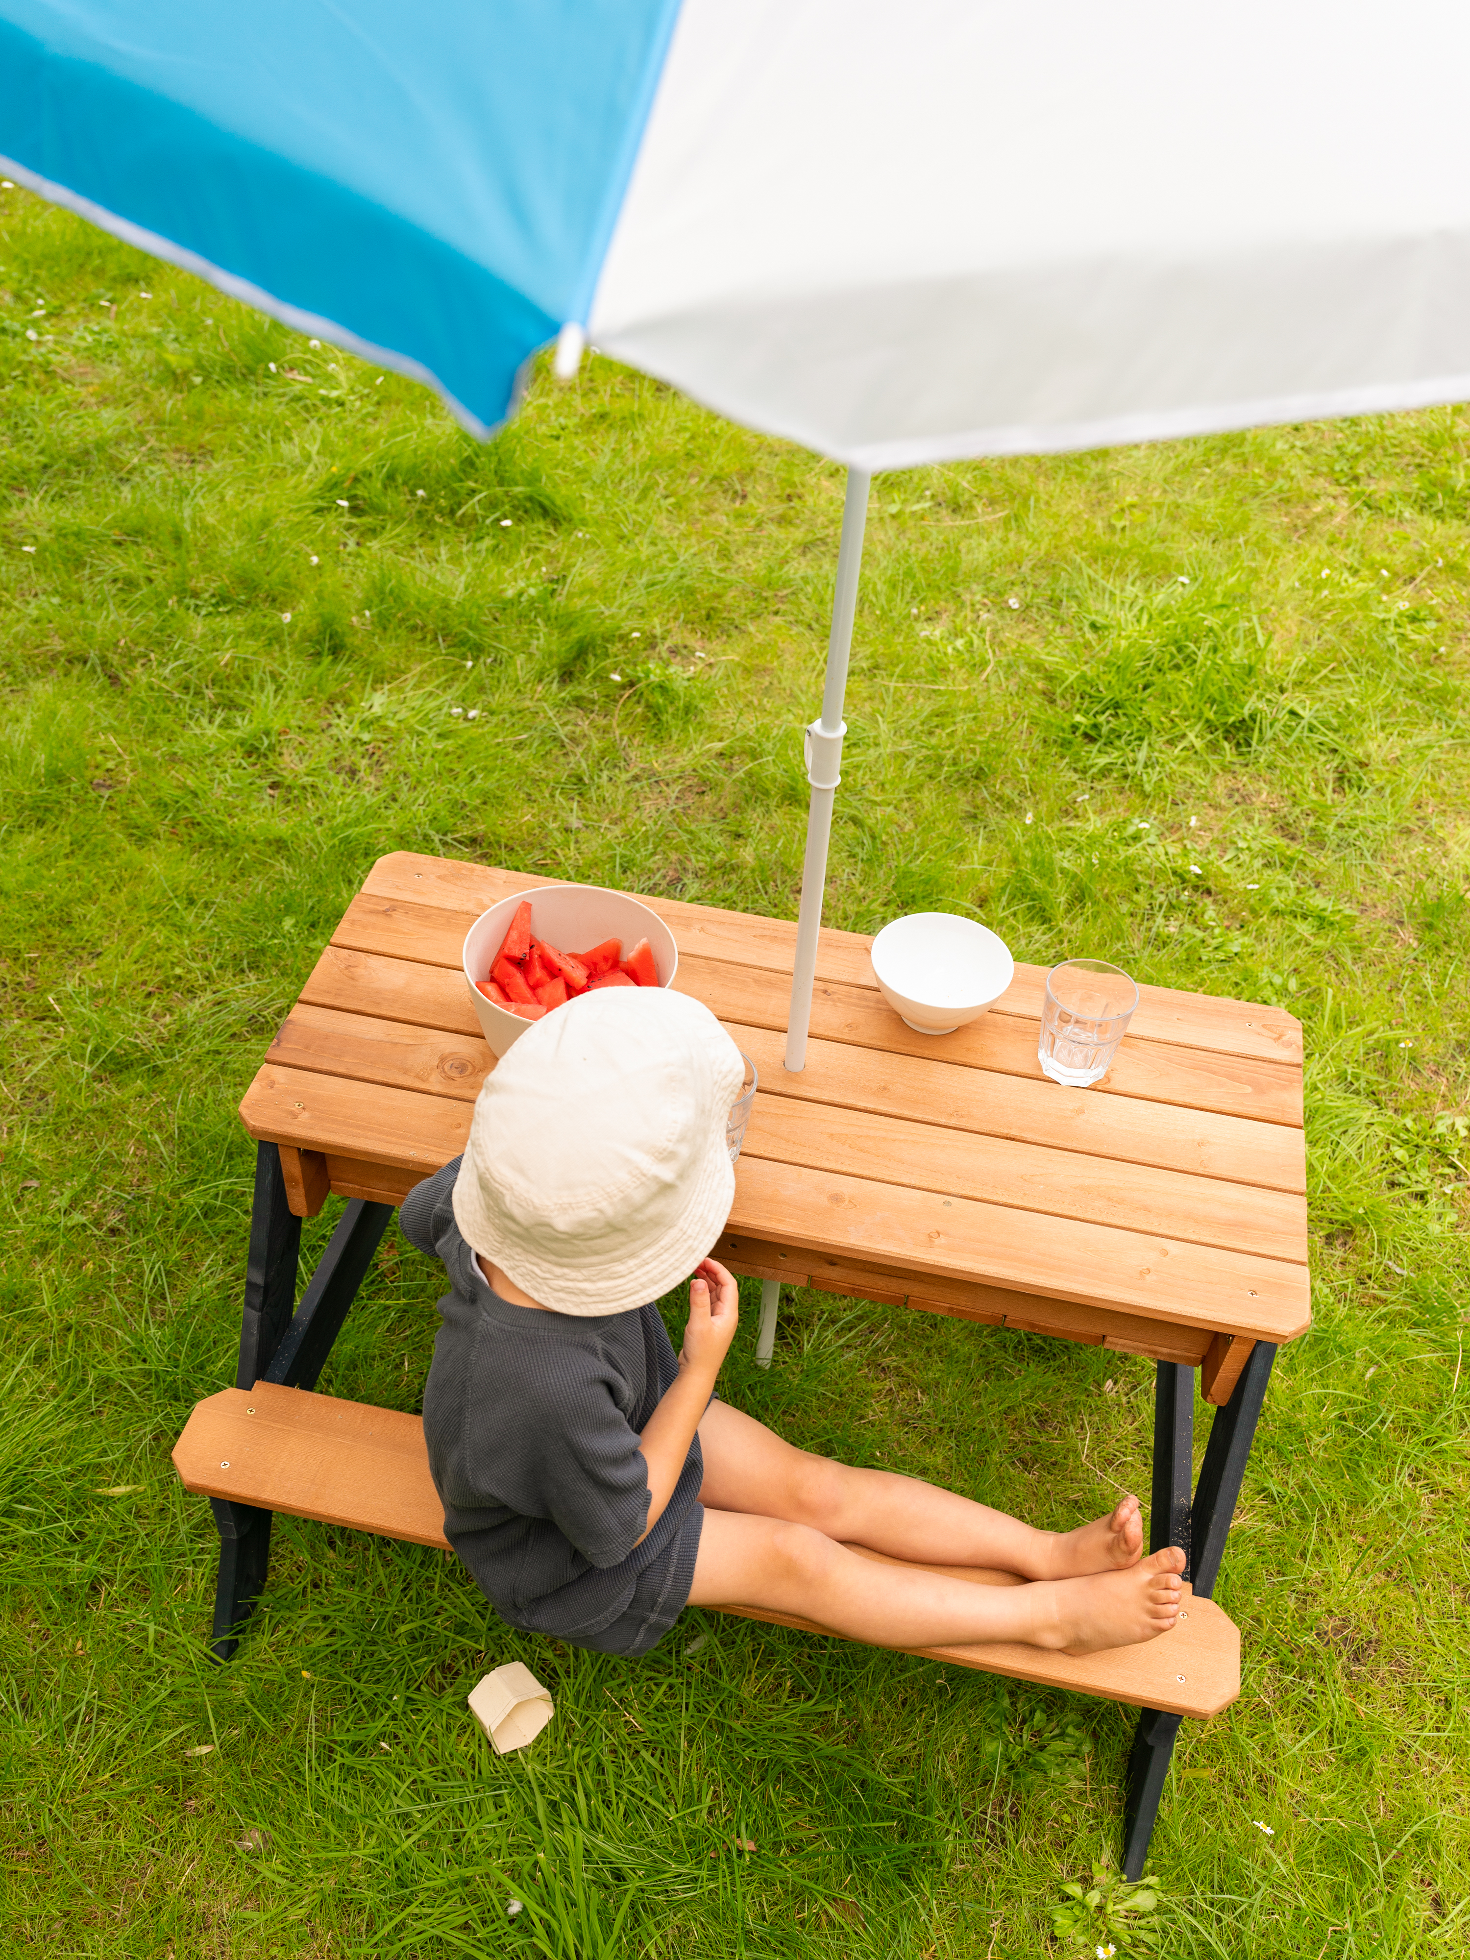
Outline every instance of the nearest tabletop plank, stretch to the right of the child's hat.
{"type": "Polygon", "coordinates": [[[735,1166],[725,1229],[896,1266],[913,1292],[925,1290],[925,1274],[939,1274],[1266,1341],[1290,1341],[1311,1319],[1305,1264],[759,1156],[735,1166]]]}

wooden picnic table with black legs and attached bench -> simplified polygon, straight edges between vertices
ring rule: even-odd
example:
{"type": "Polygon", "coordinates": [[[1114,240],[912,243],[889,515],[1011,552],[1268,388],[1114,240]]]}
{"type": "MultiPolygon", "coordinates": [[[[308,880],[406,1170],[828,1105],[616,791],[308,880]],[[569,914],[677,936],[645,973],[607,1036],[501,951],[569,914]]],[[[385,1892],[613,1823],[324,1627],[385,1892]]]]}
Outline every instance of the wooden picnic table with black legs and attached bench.
{"type": "MultiPolygon", "coordinates": [[[[241,1103],[259,1145],[241,1360],[235,1390],[200,1411],[218,1405],[239,1429],[243,1409],[225,1409],[227,1396],[316,1382],[390,1207],[463,1151],[494,1066],[461,968],[465,933],[496,900],[555,882],[406,851],[372,866],[241,1103]],[[329,1194],[353,1203],[298,1307],[300,1219],[329,1194]]],[[[678,943],[674,986],[713,1009],[760,1076],[717,1256],[768,1294],[774,1282],[809,1284],[1151,1356],[1152,1544],[1178,1543],[1192,1560],[1200,1625],[1186,1639],[1229,1646],[1221,1629],[1235,1629],[1209,1593],[1272,1356],[1309,1325],[1299,1023],[1280,1007],[1145,986],[1107,1076],[1068,1090],[1037,1062],[1043,968],[1017,964],[968,1027],[919,1035],[878,994],[870,941],[823,931],[808,1064],[788,1074],[796,927],[668,898],[643,904],[678,943]],[[1196,1368],[1219,1413],[1192,1494],[1196,1368]]],[[[249,1407],[257,1413],[265,1401],[249,1407]]],[[[306,1427],[318,1439],[310,1456],[331,1421],[318,1413],[306,1427]]],[[[225,1658],[265,1578],[270,1507],[337,1513],[302,1495],[300,1464],[288,1470],[280,1452],[270,1472],[261,1456],[249,1484],[243,1445],[214,1472],[216,1433],[200,1429],[192,1454],[188,1435],[180,1472],[212,1495],[223,1539],[216,1652],[225,1658]]],[[[408,1446],[394,1443],[400,1456],[408,1446]]],[[[370,1519],[368,1529],[433,1543],[425,1492],[417,1529],[370,1519]]],[[[1213,1713],[1239,1690],[1239,1637],[1229,1691],[1229,1654],[1209,1688],[1203,1662],[1194,1686],[1180,1672],[1176,1688],[1162,1650],[1162,1641],[1121,1650],[1135,1658],[1111,1672],[1102,1666],[1111,1656],[1068,1664],[1029,1648],[1019,1660],[966,1660],[1145,1705],[1129,1768],[1129,1870],[1147,1850],[1180,1715],[1213,1713]]]]}

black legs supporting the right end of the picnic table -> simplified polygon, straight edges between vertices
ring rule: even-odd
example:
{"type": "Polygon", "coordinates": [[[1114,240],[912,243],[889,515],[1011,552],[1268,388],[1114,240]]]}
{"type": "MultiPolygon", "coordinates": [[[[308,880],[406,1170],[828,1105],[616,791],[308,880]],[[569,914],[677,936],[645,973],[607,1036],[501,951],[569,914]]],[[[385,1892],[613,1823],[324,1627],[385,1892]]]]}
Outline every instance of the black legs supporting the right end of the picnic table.
{"type": "MultiPolygon", "coordinates": [[[[1178,1544],[1184,1550],[1184,1576],[1196,1597],[1211,1599],[1225,1541],[1241,1497],[1250,1443],[1256,1435],[1260,1405],[1276,1348],[1256,1341],[1250,1360],[1241,1370],[1235,1394],[1215,1411],[1200,1466],[1200,1484],[1190,1501],[1194,1472],[1194,1368],[1160,1360],[1154,1386],[1154,1478],[1152,1515],[1149,1519],[1149,1550],[1178,1544]]],[[[1123,1876],[1143,1878],[1149,1860],[1149,1840],[1158,1817],[1158,1799],[1168,1778],[1168,1758],[1182,1715],[1162,1709],[1143,1709],[1129,1752],[1127,1797],[1123,1805],[1123,1876]]]]}

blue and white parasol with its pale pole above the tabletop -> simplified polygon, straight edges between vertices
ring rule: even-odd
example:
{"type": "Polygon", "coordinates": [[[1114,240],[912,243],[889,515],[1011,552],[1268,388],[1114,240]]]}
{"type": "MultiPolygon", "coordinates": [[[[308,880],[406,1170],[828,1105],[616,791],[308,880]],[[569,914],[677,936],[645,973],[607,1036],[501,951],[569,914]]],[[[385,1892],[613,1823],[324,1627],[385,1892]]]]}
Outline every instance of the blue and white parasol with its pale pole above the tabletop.
{"type": "Polygon", "coordinates": [[[1470,398],[1445,0],[0,0],[0,167],[488,435],[586,339],[868,476],[1470,398]]]}

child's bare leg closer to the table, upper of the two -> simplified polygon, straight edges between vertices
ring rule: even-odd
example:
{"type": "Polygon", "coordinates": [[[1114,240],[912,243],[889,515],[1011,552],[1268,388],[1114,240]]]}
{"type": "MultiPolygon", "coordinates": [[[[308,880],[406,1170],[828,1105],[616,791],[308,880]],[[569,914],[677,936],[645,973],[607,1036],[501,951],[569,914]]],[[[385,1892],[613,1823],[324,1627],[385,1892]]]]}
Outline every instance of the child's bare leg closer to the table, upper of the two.
{"type": "Polygon", "coordinates": [[[1137,1497],[1123,1497],[1107,1517],[1078,1531],[1035,1531],[953,1490],[811,1456],[727,1401],[706,1409],[700,1445],[702,1503],[786,1517],[839,1544],[866,1544],[892,1558],[1060,1580],[1133,1566],[1143,1554],[1137,1497]]]}

